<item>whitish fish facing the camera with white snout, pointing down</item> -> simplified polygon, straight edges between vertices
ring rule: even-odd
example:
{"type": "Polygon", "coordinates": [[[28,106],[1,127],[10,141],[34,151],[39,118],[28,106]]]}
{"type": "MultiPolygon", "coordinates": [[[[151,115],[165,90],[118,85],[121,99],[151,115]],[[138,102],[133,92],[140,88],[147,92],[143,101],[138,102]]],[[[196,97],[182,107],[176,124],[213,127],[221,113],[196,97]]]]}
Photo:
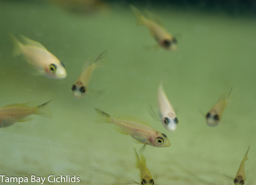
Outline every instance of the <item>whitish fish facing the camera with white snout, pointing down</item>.
{"type": "Polygon", "coordinates": [[[178,118],[176,117],[173,106],[170,104],[164,92],[162,84],[158,88],[158,108],[164,127],[170,132],[175,132],[178,124],[178,118]]]}

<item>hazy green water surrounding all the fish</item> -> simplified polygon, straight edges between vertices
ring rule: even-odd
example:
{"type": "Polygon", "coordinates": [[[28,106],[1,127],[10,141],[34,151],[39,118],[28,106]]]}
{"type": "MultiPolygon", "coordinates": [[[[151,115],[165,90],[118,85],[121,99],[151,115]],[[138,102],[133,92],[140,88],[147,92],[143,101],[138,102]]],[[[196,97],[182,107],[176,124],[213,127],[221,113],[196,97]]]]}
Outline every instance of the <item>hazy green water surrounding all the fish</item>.
{"type": "Polygon", "coordinates": [[[142,145],[113,125],[96,124],[93,107],[98,107],[110,115],[122,111],[147,118],[167,135],[170,147],[147,146],[143,153],[158,185],[233,184],[226,176],[235,177],[249,145],[245,184],[256,184],[255,17],[149,10],[176,35],[177,51],[144,49],[155,41],[145,26],[136,25],[129,6],[79,15],[47,3],[0,1],[0,106],[53,99],[52,119],[33,115],[33,121],[1,128],[1,175],[28,177],[21,184],[40,184],[32,183],[31,175],[46,177],[44,184],[55,184],[47,181],[49,175],[80,177],[68,184],[140,182],[133,148],[142,145]],[[9,32],[42,43],[65,63],[67,78],[33,75],[22,57],[12,56],[9,32]],[[104,93],[75,100],[71,87],[83,63],[104,50],[108,64],[93,72],[89,84],[104,93]],[[179,119],[175,133],[149,113],[149,104],[157,110],[160,81],[179,119]],[[207,126],[199,110],[206,114],[231,86],[221,123],[207,126]]]}

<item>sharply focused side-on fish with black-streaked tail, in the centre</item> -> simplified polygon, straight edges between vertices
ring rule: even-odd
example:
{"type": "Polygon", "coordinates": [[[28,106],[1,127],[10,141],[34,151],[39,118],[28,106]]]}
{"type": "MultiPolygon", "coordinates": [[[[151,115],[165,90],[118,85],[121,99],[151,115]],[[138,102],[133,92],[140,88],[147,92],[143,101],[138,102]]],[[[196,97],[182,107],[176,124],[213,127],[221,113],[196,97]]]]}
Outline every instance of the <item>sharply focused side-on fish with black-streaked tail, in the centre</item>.
{"type": "Polygon", "coordinates": [[[114,118],[98,108],[94,109],[99,114],[99,118],[96,120],[97,123],[112,123],[118,126],[114,129],[121,134],[130,135],[136,140],[134,143],[154,147],[169,147],[171,145],[165,134],[161,134],[150,127],[149,123],[144,120],[144,123],[142,123],[142,120],[130,115],[118,115],[114,118]]]}

